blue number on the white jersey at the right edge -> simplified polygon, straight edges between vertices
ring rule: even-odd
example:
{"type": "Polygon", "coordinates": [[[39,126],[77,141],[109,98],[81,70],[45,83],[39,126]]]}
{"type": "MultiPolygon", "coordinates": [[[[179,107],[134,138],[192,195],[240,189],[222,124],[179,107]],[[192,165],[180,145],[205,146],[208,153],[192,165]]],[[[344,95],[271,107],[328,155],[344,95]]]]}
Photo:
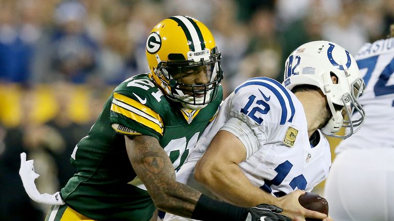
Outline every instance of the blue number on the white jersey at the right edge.
{"type": "MultiPolygon", "coordinates": [[[[357,65],[359,66],[360,70],[367,69],[367,73],[364,76],[365,85],[368,84],[369,79],[371,78],[371,75],[375,70],[378,57],[379,55],[368,57],[357,61],[357,65]]],[[[375,96],[394,94],[394,85],[386,86],[388,79],[393,73],[394,73],[394,58],[386,65],[382,73],[379,75],[379,79],[376,82],[375,86],[373,86],[373,92],[375,92],[375,96]]]]}

